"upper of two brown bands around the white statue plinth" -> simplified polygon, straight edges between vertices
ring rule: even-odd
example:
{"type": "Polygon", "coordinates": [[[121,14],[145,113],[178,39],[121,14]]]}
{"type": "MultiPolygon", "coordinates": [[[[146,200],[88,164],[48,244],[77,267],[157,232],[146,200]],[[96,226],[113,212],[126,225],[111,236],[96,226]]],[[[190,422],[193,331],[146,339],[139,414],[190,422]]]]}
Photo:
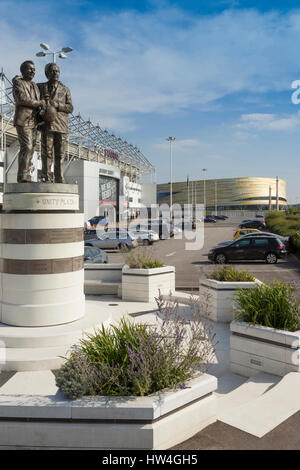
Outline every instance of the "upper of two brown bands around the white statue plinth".
{"type": "Polygon", "coordinates": [[[73,243],[81,242],[83,239],[83,227],[0,230],[0,243],[12,245],[73,243]]]}

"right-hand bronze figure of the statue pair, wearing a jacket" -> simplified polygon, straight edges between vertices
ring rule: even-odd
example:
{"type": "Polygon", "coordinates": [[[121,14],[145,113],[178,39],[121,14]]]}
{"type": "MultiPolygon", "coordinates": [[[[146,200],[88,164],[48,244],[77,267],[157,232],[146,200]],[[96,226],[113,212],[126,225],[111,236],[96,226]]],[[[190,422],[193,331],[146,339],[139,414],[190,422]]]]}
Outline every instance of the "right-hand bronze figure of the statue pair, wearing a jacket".
{"type": "Polygon", "coordinates": [[[61,163],[67,142],[68,114],[73,112],[73,105],[69,88],[58,80],[59,73],[59,67],[55,63],[47,64],[45,75],[48,82],[38,84],[41,98],[46,102],[44,122],[41,126],[42,181],[51,181],[54,149],[54,181],[64,183],[61,163]]]}

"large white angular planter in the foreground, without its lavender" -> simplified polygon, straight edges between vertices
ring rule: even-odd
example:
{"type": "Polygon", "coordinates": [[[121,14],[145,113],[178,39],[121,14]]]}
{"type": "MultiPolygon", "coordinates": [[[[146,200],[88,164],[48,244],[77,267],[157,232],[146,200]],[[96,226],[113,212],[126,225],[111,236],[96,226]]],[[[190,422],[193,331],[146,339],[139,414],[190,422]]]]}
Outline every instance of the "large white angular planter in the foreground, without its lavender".
{"type": "Polygon", "coordinates": [[[0,449],[166,450],[216,421],[217,379],[148,397],[0,395],[0,449]]]}

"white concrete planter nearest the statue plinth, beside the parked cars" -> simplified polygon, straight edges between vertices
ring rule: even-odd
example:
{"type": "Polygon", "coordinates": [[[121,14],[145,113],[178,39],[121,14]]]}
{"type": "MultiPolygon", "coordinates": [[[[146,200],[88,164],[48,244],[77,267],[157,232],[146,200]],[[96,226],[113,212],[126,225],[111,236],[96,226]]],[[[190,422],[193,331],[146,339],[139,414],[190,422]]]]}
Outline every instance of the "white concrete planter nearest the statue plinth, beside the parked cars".
{"type": "Polygon", "coordinates": [[[175,267],[163,266],[153,269],[133,269],[127,265],[122,270],[122,299],[153,302],[162,294],[175,292],[175,267]]]}

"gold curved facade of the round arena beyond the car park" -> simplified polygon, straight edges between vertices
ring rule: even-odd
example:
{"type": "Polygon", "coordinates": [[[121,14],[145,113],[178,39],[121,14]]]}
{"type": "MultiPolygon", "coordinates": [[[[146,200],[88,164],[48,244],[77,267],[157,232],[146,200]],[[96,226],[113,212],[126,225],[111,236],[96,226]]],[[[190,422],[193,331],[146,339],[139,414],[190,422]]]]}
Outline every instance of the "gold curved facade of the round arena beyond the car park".
{"type": "MultiPolygon", "coordinates": [[[[286,182],[276,178],[243,177],[172,183],[173,204],[204,204],[212,211],[284,209],[286,182]],[[271,207],[270,207],[271,206],[271,207]]],[[[158,204],[170,203],[170,183],[157,185],[158,204]]]]}

